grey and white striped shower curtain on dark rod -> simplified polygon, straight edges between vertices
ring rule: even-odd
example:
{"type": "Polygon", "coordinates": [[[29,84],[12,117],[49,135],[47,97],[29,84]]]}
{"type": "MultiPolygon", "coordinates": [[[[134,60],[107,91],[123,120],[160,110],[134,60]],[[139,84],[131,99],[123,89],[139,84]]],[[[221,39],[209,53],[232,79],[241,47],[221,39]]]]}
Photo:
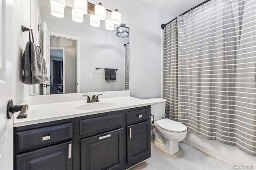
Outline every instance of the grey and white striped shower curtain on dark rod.
{"type": "Polygon", "coordinates": [[[166,26],[164,48],[167,116],[256,156],[256,1],[195,8],[166,26]]]}

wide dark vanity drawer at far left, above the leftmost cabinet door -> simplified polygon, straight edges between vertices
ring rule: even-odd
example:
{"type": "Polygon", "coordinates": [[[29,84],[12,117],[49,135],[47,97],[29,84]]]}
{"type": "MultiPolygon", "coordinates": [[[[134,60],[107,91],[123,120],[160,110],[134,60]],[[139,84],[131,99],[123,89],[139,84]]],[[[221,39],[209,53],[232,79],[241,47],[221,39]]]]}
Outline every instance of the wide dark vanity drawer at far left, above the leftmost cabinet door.
{"type": "Polygon", "coordinates": [[[33,148],[72,138],[73,123],[16,132],[17,150],[33,148]]]}

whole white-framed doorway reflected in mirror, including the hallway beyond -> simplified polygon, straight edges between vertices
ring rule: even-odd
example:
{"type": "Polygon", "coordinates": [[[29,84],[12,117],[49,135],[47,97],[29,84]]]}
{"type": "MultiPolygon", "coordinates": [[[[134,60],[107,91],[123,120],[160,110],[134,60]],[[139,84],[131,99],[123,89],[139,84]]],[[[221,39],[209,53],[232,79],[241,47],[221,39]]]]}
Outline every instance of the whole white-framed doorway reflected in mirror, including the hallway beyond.
{"type": "Polygon", "coordinates": [[[80,47],[78,47],[79,38],[50,32],[50,64],[51,64],[51,93],[50,94],[60,94],[60,93],[77,93],[80,92],[78,84],[80,85],[80,47]],[[56,54],[56,50],[63,49],[62,54],[56,54]],[[53,51],[52,49],[55,49],[53,51]],[[55,52],[55,54],[54,54],[55,52]],[[62,70],[61,69],[61,59],[56,59],[56,56],[64,56],[62,59],[62,70]],[[55,61],[52,61],[55,60],[55,61]],[[58,64],[57,64],[58,63],[58,64]],[[79,63],[79,64],[78,64],[79,63]],[[55,67],[55,68],[54,68],[55,67]],[[62,76],[60,76],[63,73],[62,76]],[[57,77],[56,77],[57,76],[57,77]],[[61,79],[60,77],[63,77],[61,79]]]}

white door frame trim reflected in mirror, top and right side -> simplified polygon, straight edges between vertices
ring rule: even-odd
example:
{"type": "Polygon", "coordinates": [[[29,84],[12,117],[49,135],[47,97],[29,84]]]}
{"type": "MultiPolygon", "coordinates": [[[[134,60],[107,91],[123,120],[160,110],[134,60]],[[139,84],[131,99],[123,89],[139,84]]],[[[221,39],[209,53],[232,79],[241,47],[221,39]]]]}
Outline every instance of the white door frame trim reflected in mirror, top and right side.
{"type": "Polygon", "coordinates": [[[58,37],[58,38],[66,38],[66,39],[70,39],[70,40],[75,40],[76,41],[76,93],[80,93],[81,91],[81,85],[80,85],[80,51],[81,51],[81,47],[80,47],[80,38],[79,37],[75,37],[75,36],[69,36],[66,34],[60,34],[57,32],[50,32],[50,36],[53,37],[58,37]]]}

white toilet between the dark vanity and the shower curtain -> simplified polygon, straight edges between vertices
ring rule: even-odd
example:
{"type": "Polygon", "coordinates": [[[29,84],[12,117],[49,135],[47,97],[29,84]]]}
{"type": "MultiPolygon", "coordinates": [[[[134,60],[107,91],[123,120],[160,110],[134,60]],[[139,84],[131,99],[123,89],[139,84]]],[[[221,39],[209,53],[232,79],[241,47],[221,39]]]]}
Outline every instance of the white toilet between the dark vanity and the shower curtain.
{"type": "Polygon", "coordinates": [[[179,151],[178,142],[182,141],[187,135],[187,127],[182,123],[164,119],[166,99],[152,98],[145,99],[155,104],[151,105],[152,131],[155,136],[154,144],[169,155],[179,151]]]}

